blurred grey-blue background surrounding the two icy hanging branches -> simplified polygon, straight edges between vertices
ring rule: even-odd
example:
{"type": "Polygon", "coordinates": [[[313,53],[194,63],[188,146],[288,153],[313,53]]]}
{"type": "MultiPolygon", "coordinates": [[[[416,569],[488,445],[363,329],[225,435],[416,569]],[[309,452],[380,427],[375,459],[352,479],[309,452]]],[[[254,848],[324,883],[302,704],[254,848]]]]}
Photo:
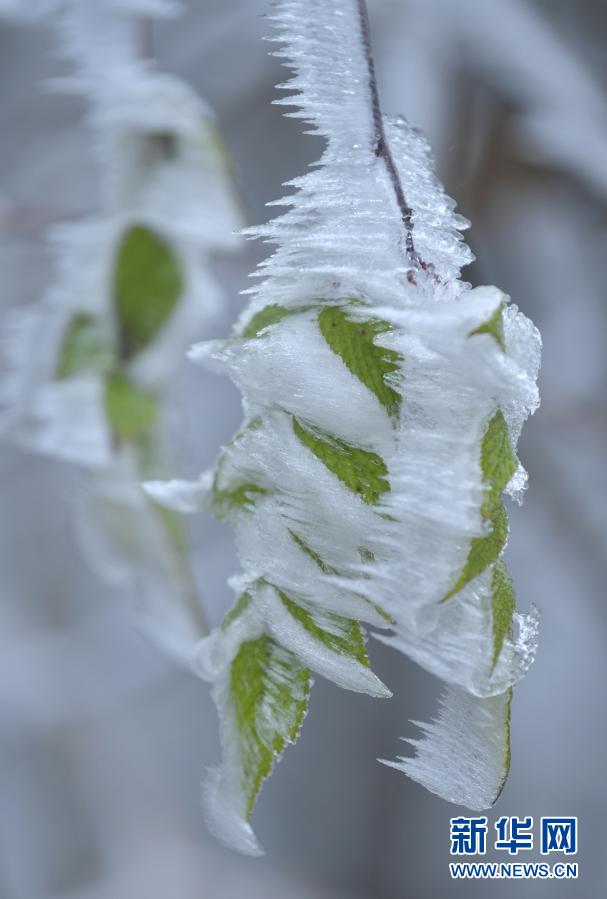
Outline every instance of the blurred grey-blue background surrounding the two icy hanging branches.
{"type": "MultiPolygon", "coordinates": [[[[261,40],[266,11],[266,0],[189,0],[155,36],[161,67],[215,109],[250,224],[321,150],[271,105],[285,73],[261,40]]],[[[580,880],[532,889],[594,899],[607,837],[607,5],[370,0],[369,12],[384,111],[425,131],[473,222],[467,280],[499,285],[543,335],[542,406],[520,446],[530,487],[523,508],[510,508],[506,557],[519,605],[542,610],[541,644],[515,695],[512,770],[489,820],[578,815],[580,880]]],[[[83,104],[45,89],[62,65],[52,29],[1,24],[3,308],[39,301],[51,277],[47,225],[97,202],[83,104]]],[[[216,259],[216,335],[228,333],[263,255],[243,242],[216,259]]],[[[173,393],[175,472],[194,476],[237,428],[239,396],[185,359],[173,393]]],[[[148,646],[124,597],[87,568],[73,471],[3,447],[0,476],[2,899],[527,894],[515,882],[452,882],[458,810],[375,762],[401,753],[409,719],[434,714],[438,684],[373,642],[395,698],[317,679],[302,736],[255,815],[268,855],[218,845],[199,796],[219,758],[206,685],[148,646]]],[[[200,516],[191,538],[217,623],[231,602],[232,536],[200,516]]]]}

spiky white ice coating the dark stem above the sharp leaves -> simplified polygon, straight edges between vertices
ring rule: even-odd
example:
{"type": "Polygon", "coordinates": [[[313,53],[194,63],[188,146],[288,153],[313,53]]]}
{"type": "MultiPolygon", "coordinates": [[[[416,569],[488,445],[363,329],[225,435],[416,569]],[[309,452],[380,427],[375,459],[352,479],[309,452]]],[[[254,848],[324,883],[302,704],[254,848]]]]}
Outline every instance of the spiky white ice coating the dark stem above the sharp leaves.
{"type": "MultiPolygon", "coordinates": [[[[285,87],[300,91],[275,102],[296,105],[298,110],[288,115],[305,119],[327,146],[317,167],[289,182],[297,193],[273,204],[290,206],[289,211],[251,229],[278,244],[258,275],[271,277],[273,302],[286,306],[302,300],[293,277],[300,270],[305,271],[308,298],[328,301],[362,293],[400,306],[411,299],[403,280],[415,261],[403,253],[401,212],[386,164],[376,155],[359,4],[294,0],[280,3],[271,22],[277,32],[271,39],[286,44],[275,55],[295,71],[285,87]],[[344,190],[345,184],[356,189],[344,190]]],[[[404,194],[417,203],[415,245],[423,248],[425,263],[441,278],[429,292],[452,296],[462,289],[460,268],[473,258],[459,235],[467,222],[453,214],[454,204],[431,168],[425,139],[401,118],[386,119],[384,127],[404,194]]],[[[425,291],[421,279],[419,287],[425,291]]],[[[268,289],[264,284],[256,291],[258,299],[243,320],[267,301],[268,289]]]]}

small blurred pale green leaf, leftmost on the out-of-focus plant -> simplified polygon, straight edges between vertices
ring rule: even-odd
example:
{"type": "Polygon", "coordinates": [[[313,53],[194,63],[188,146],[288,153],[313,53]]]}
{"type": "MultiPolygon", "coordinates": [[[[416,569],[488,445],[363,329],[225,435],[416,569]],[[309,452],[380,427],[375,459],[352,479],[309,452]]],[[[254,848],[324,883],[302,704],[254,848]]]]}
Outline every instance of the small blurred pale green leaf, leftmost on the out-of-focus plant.
{"type": "Polygon", "coordinates": [[[101,322],[87,312],[79,312],[65,331],[56,378],[90,372],[105,374],[114,363],[114,351],[101,322]]]}

